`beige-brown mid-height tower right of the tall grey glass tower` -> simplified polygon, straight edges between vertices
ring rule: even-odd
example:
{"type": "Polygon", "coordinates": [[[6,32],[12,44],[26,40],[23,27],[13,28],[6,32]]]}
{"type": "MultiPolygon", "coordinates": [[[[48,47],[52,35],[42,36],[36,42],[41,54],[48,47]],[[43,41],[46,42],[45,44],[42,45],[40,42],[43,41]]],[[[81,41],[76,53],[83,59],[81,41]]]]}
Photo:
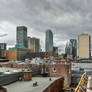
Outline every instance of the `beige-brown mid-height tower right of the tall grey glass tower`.
{"type": "Polygon", "coordinates": [[[28,37],[28,48],[31,49],[31,52],[40,52],[40,40],[28,37]]]}

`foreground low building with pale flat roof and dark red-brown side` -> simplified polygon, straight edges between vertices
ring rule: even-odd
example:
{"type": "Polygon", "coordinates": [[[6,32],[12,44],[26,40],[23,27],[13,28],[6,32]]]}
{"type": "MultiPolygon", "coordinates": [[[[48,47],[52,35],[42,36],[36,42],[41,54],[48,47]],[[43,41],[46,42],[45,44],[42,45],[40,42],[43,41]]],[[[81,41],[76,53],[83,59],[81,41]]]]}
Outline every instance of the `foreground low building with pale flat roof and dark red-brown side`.
{"type": "Polygon", "coordinates": [[[33,77],[32,81],[7,85],[9,92],[63,92],[64,78],[33,77]],[[37,85],[34,85],[37,84],[37,85]]]}

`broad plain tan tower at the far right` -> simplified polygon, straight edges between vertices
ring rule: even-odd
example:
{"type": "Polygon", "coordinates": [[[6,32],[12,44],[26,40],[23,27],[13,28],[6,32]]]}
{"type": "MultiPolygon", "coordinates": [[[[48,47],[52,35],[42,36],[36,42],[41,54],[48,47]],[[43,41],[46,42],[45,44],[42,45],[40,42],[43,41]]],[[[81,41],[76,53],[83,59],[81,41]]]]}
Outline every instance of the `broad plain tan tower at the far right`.
{"type": "Polygon", "coordinates": [[[91,57],[91,37],[88,34],[80,34],[78,37],[79,58],[91,57]]]}

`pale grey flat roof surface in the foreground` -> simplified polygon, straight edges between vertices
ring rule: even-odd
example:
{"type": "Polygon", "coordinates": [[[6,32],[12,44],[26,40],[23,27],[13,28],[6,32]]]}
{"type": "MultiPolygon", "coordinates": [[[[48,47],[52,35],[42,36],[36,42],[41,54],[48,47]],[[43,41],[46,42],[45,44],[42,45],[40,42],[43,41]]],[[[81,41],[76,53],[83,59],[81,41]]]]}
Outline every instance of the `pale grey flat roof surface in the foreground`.
{"type": "Polygon", "coordinates": [[[43,92],[47,87],[49,87],[55,80],[59,78],[49,77],[33,77],[30,81],[18,81],[10,85],[5,86],[8,92],[43,92]],[[33,87],[33,83],[37,82],[38,86],[33,87]]]}

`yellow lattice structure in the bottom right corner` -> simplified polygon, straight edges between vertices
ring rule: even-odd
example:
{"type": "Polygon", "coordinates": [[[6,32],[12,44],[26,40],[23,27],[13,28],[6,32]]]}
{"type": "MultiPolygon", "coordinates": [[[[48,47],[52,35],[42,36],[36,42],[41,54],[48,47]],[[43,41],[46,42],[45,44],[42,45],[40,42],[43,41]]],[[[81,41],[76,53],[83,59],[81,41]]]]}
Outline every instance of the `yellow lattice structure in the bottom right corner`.
{"type": "Polygon", "coordinates": [[[87,73],[85,72],[82,75],[80,82],[79,82],[77,88],[75,89],[75,92],[86,92],[87,91],[87,83],[88,83],[88,77],[87,77],[87,73]]]}

